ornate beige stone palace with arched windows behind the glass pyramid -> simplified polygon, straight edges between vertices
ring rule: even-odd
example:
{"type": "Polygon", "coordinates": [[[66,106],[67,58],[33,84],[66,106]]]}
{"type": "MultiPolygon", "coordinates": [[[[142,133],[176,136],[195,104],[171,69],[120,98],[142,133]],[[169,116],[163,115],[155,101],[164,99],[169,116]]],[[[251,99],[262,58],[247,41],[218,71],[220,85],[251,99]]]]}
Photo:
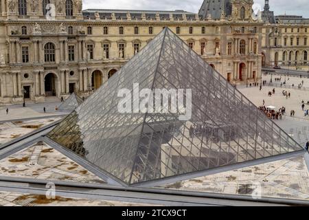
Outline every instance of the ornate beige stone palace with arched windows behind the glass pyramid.
{"type": "MultiPolygon", "coordinates": [[[[89,96],[165,27],[231,84],[263,66],[308,69],[309,19],[275,16],[265,1],[205,0],[184,10],[82,10],[82,0],[0,0],[0,104],[89,96]]],[[[174,48],[177,50],[177,48],[174,48]]]]}

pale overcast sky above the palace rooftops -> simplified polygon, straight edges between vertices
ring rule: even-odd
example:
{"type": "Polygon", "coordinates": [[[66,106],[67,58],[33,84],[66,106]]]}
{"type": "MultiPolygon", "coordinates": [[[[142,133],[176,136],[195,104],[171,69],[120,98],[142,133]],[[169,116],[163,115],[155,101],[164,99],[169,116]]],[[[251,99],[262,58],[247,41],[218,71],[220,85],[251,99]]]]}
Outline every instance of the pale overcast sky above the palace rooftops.
{"type": "MultiPolygon", "coordinates": [[[[187,10],[197,13],[203,0],[82,0],[84,9],[187,10]]],[[[255,0],[264,7],[264,0],[255,0]]],[[[308,0],[270,0],[275,14],[297,14],[309,17],[308,0]],[[292,4],[293,3],[293,4],[292,4]]]]}

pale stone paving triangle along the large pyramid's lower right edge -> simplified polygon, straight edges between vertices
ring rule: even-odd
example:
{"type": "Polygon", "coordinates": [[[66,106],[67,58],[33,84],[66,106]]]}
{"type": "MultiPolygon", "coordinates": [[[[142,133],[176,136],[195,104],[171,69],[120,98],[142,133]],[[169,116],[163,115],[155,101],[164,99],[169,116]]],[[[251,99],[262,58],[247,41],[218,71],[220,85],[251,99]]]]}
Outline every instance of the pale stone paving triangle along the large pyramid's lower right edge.
{"type": "Polygon", "coordinates": [[[295,157],[159,188],[309,200],[309,172],[304,157],[295,157]]]}

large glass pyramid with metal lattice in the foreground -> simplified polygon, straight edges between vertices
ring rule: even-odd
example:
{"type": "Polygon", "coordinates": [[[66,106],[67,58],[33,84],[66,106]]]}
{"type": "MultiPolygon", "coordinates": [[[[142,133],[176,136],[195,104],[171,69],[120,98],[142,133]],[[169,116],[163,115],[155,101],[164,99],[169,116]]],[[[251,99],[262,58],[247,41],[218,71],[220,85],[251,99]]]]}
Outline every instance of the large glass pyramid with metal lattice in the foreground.
{"type": "Polygon", "coordinates": [[[48,137],[128,185],[304,150],[168,28],[48,137]],[[192,118],[166,105],[119,113],[118,91],[134,83],[192,89],[192,118]]]}

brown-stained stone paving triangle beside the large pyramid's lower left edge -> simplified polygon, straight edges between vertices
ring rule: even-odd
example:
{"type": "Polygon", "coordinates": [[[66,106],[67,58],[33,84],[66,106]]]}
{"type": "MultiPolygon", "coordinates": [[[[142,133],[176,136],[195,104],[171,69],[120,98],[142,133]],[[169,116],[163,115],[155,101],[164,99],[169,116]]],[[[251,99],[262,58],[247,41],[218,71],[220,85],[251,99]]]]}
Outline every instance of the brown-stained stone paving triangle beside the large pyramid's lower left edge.
{"type": "Polygon", "coordinates": [[[34,144],[2,159],[0,176],[104,184],[102,179],[47,144],[34,144]]]}

